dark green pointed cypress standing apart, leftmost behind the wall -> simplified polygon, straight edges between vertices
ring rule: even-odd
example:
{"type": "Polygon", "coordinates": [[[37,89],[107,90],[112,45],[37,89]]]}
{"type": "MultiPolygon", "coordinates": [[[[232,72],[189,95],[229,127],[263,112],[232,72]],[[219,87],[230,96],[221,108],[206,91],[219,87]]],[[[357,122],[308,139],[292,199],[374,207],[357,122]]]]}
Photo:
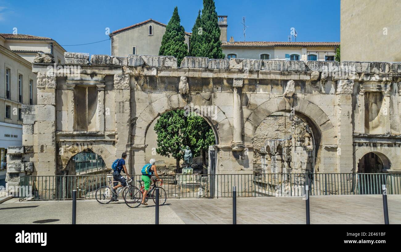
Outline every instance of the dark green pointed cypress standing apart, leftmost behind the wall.
{"type": "Polygon", "coordinates": [[[166,32],[163,35],[162,45],[159,50],[159,55],[176,57],[178,66],[181,64],[182,59],[188,55],[188,46],[185,44],[185,30],[180,22],[176,6],[166,26],[166,32]]]}

